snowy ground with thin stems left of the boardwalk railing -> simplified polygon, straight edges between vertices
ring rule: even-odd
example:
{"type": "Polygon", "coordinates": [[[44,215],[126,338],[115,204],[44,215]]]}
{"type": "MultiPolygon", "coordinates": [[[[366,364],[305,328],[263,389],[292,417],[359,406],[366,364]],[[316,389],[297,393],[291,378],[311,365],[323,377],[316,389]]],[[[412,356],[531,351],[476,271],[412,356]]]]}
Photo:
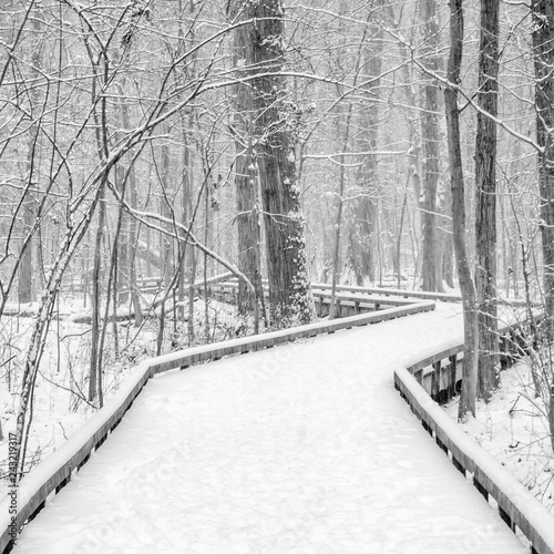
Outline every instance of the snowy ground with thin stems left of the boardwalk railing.
{"type": "MultiPolygon", "coordinates": [[[[252,332],[250,322],[239,321],[233,307],[213,300],[208,302],[209,329],[206,332],[205,308],[204,300],[195,301],[195,337],[191,345],[186,321],[176,326],[166,321],[163,353],[205,343],[208,336],[212,342],[252,332]]],[[[33,306],[29,306],[28,317],[0,319],[0,423],[3,432],[0,441],[0,496],[8,488],[8,439],[16,429],[33,311],[33,306]]],[[[91,327],[74,320],[75,316],[86,312],[82,304],[66,299],[60,307],[60,317],[52,321],[37,378],[27,471],[53,452],[96,411],[86,401],[91,327]]],[[[132,367],[156,355],[156,337],[155,318],[147,318],[141,329],[130,322],[120,322],[116,349],[113,328],[107,327],[103,361],[105,398],[117,390],[132,367]]]]}

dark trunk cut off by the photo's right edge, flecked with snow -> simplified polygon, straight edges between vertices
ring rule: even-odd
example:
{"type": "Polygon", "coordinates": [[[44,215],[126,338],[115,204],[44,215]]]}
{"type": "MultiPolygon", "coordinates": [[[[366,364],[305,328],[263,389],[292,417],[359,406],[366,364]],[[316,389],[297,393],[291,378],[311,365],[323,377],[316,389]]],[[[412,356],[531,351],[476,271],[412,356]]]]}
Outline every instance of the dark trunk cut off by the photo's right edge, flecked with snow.
{"type": "Polygon", "coordinates": [[[545,331],[554,339],[554,3],[532,0],[533,57],[535,62],[536,140],[541,191],[541,238],[544,264],[545,331]]]}

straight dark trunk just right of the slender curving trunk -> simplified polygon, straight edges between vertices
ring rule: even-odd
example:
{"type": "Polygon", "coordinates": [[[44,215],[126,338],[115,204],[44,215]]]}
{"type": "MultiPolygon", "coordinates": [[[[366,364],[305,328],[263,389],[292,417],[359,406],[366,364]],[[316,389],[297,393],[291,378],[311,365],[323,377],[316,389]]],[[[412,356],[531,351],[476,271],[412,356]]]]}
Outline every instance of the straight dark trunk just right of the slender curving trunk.
{"type": "MultiPolygon", "coordinates": [[[[478,105],[497,115],[499,0],[481,1],[478,105]]],[[[479,393],[499,386],[496,310],[496,124],[478,112],[475,138],[475,287],[479,302],[479,393]]]]}

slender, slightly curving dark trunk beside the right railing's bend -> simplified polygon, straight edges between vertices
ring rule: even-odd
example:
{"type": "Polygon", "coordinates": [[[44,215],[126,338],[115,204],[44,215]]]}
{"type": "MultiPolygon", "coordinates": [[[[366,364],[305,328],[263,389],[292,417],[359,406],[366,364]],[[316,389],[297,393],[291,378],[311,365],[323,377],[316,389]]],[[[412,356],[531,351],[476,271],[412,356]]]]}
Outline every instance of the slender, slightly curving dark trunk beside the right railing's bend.
{"type": "Polygon", "coordinates": [[[458,109],[458,86],[463,53],[463,8],[462,0],[450,0],[450,58],[448,64],[449,84],[444,90],[449,161],[452,185],[452,229],[454,253],[458,263],[458,278],[463,302],[463,380],[458,418],[465,419],[468,412],[475,416],[475,390],[478,375],[478,317],[475,287],[471,276],[471,265],[465,246],[465,195],[463,184],[462,148],[460,145],[460,110],[458,109]]]}

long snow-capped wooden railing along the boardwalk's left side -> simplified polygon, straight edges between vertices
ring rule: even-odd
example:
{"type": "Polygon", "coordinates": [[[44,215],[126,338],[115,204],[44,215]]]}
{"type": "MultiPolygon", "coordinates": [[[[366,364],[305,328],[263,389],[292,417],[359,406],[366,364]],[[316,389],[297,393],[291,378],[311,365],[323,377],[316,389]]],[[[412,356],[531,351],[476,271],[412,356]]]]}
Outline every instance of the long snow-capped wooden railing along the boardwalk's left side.
{"type": "Polygon", "coordinates": [[[47,500],[65,486],[72,475],[89,460],[109,434],[119,425],[148,379],[157,373],[184,369],[195,363],[217,360],[224,356],[271,348],[276,345],[317,335],[332,334],[341,329],[377,324],[411,314],[434,309],[434,302],[421,301],[372,314],[352,316],[332,321],[321,321],[281,331],[257,335],[232,341],[217,342],[152,358],[137,366],[122,383],[117,392],[84,425],[42,461],[21,481],[9,489],[9,495],[0,502],[0,552],[7,554],[22,526],[31,521],[45,505],[47,500]],[[10,514],[11,496],[17,499],[18,513],[10,514]]]}

